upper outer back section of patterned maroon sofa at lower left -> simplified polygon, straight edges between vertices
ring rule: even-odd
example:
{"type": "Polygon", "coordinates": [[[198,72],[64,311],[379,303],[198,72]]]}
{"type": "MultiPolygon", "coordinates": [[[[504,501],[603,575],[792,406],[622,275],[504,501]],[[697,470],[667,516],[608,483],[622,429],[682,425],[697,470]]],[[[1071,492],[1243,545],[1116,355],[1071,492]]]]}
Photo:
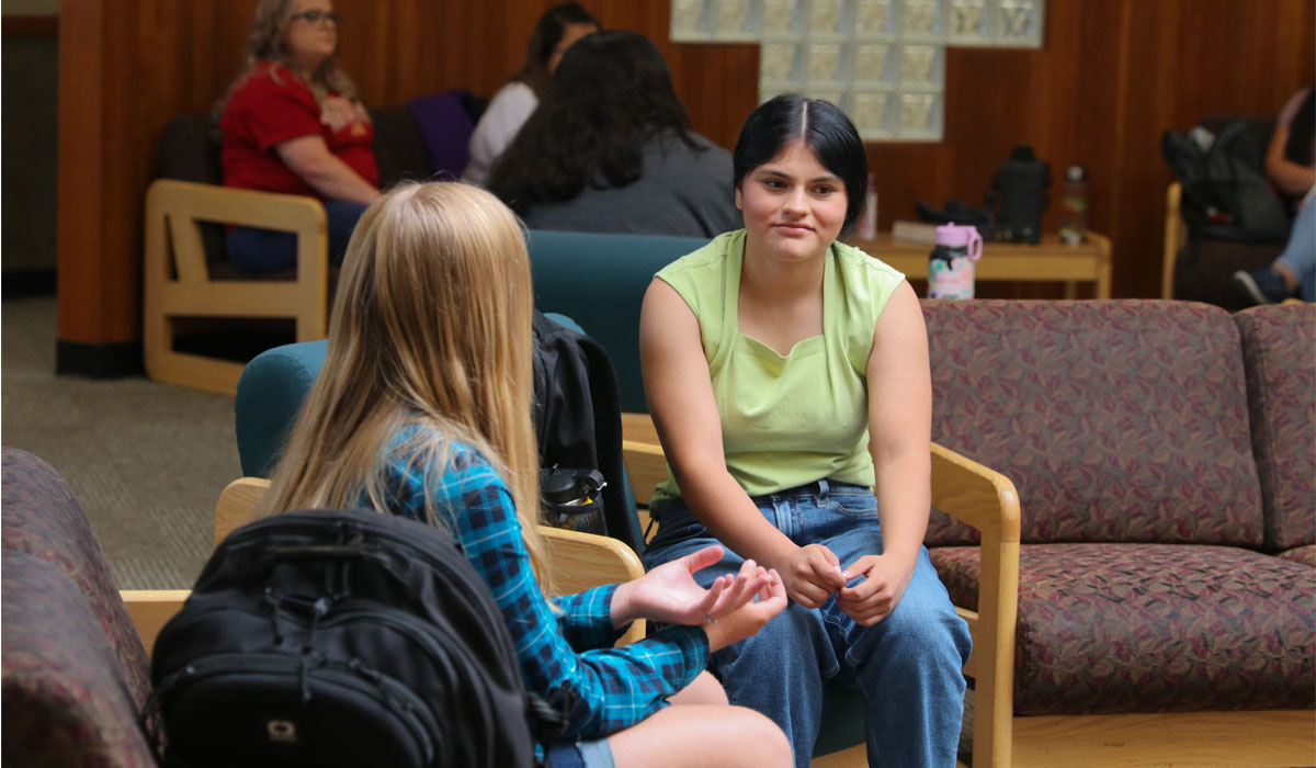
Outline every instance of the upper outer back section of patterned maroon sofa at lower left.
{"type": "Polygon", "coordinates": [[[146,648],[68,483],[41,458],[14,448],[0,454],[0,478],[4,549],[53,562],[82,590],[82,602],[95,611],[126,672],[132,702],[141,706],[150,690],[146,648]]]}

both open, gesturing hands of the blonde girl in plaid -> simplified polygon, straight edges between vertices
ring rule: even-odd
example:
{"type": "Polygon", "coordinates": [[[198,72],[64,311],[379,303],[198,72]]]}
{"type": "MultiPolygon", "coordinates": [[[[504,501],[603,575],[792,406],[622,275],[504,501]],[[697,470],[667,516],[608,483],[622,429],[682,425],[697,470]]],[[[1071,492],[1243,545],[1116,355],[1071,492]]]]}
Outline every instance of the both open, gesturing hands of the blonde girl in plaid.
{"type": "Polygon", "coordinates": [[[776,570],[746,560],[704,589],[694,574],[721,559],[720,545],[704,547],[622,584],[612,598],[613,626],[640,618],[701,624],[715,651],[753,635],[786,607],[786,586],[776,570]]]}

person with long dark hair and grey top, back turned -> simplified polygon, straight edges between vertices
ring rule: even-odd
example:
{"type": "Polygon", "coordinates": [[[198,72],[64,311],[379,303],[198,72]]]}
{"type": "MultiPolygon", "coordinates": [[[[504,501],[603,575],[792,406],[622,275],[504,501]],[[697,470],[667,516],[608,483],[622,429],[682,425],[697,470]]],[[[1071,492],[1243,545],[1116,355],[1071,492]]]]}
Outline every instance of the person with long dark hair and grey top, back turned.
{"type": "Polygon", "coordinates": [[[582,38],[494,163],[532,229],[712,237],[740,227],[732,157],[690,129],[662,54],[636,32],[582,38]]]}

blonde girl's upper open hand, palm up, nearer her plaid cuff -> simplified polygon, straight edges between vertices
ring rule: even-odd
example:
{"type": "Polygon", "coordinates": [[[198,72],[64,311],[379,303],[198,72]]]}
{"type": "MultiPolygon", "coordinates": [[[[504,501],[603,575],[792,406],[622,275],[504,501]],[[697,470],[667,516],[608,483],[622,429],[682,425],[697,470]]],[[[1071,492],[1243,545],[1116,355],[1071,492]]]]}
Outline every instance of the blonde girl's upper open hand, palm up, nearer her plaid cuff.
{"type": "Polygon", "coordinates": [[[622,584],[612,598],[613,626],[640,618],[669,624],[716,623],[769,586],[767,569],[747,560],[740,573],[719,576],[704,589],[694,574],[721,559],[721,547],[704,547],[622,584]]]}

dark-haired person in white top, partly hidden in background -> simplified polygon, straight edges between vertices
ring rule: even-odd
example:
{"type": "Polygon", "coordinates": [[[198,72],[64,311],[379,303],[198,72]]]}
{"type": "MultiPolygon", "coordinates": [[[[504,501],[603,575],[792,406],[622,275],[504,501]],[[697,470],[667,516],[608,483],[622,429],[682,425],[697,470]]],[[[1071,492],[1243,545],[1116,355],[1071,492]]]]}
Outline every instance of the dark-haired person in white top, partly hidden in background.
{"type": "Polygon", "coordinates": [[[490,167],[534,112],[558,69],[562,55],[578,40],[599,32],[599,22],[578,3],[563,3],[544,12],[525,45],[525,63],[512,75],[480,116],[471,134],[471,159],[462,179],[483,184],[490,167]]]}

